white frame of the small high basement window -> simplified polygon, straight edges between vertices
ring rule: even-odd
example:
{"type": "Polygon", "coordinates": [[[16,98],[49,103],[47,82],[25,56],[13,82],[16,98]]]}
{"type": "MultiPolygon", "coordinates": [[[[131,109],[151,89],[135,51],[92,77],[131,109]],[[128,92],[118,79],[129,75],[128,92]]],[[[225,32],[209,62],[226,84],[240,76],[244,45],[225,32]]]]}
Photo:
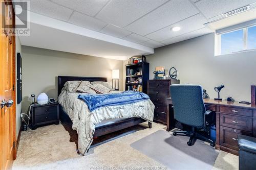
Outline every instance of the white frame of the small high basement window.
{"type": "Polygon", "coordinates": [[[250,27],[256,27],[255,25],[250,25],[244,28],[237,28],[237,29],[233,29],[233,30],[228,30],[222,33],[215,33],[215,56],[224,56],[224,55],[230,55],[230,54],[236,54],[236,53],[242,53],[242,52],[248,52],[248,51],[254,51],[256,50],[256,48],[252,48],[252,49],[248,49],[248,28],[250,27]],[[234,32],[234,31],[238,31],[238,30],[243,30],[243,50],[238,51],[238,52],[232,52],[229,54],[221,54],[221,35],[222,34],[226,34],[226,33],[230,33],[230,32],[234,32]]]}

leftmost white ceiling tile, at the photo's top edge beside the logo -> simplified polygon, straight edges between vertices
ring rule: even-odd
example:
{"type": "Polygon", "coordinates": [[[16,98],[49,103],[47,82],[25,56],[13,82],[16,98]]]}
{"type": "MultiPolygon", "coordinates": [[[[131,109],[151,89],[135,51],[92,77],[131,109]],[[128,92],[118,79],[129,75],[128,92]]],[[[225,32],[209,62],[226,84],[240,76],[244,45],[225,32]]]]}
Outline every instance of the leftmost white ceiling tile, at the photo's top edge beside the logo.
{"type": "Polygon", "coordinates": [[[63,21],[68,21],[73,12],[47,0],[30,1],[30,11],[63,21]]]}

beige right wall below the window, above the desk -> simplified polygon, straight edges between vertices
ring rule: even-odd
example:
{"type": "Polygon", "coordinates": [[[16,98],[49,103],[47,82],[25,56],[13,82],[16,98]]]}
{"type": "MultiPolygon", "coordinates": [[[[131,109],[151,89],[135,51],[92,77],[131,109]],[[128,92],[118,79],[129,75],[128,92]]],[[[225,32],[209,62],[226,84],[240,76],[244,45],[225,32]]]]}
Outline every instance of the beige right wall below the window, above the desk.
{"type": "Polygon", "coordinates": [[[223,99],[250,101],[250,85],[256,84],[256,51],[214,56],[214,34],[156,48],[146,61],[150,79],[156,66],[174,66],[181,83],[202,85],[210,98],[217,97],[214,87],[223,84],[223,99]]]}

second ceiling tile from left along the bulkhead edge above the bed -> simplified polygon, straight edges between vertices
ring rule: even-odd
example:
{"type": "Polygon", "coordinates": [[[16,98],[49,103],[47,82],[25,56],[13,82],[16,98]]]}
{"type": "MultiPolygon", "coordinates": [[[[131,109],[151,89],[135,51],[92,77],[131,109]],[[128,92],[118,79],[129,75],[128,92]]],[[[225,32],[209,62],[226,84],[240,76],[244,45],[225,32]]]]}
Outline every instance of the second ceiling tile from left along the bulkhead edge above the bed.
{"type": "Polygon", "coordinates": [[[99,31],[107,25],[105,22],[79,12],[74,12],[70,17],[69,22],[73,23],[74,25],[95,31],[99,31]]]}

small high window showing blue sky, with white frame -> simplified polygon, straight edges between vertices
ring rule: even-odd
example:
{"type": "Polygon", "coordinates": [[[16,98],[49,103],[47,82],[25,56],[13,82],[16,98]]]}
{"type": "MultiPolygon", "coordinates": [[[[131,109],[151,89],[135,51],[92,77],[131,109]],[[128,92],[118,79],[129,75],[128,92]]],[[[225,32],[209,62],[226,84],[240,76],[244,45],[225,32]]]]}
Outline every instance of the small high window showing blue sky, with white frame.
{"type": "Polygon", "coordinates": [[[216,55],[256,50],[256,26],[217,33],[216,55]]]}

